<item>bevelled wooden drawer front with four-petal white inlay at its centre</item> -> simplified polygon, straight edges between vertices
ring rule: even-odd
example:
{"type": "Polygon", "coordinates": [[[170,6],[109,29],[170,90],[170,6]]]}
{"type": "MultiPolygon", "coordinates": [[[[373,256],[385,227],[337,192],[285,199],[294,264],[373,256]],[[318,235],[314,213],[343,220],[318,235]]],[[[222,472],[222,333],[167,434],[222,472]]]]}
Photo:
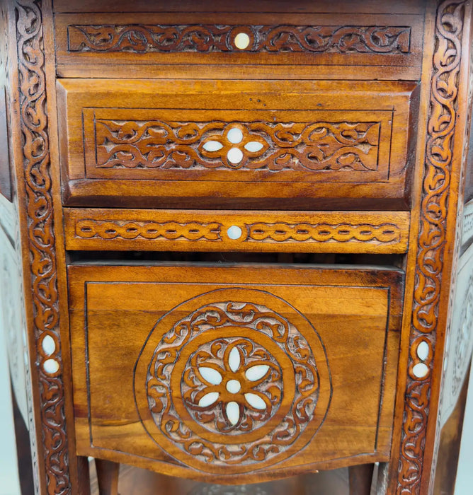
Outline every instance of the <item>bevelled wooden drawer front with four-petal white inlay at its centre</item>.
{"type": "Polygon", "coordinates": [[[373,206],[388,198],[391,208],[406,207],[414,83],[295,90],[283,82],[63,80],[58,88],[68,204],[100,197],[111,205],[326,209],[346,197],[348,208],[351,199],[373,206]]]}

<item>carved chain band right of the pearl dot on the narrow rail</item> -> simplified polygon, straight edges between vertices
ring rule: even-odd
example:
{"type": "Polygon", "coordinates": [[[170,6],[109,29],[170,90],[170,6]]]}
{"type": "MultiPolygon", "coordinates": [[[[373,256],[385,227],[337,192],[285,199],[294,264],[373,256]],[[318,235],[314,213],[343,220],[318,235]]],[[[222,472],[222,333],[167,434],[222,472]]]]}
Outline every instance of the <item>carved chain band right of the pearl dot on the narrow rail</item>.
{"type": "Polygon", "coordinates": [[[401,238],[401,230],[393,223],[383,223],[379,226],[368,224],[351,225],[350,223],[319,223],[311,225],[309,223],[253,223],[248,226],[249,240],[273,240],[284,243],[288,240],[304,242],[315,240],[318,243],[336,241],[346,243],[351,240],[358,240],[366,243],[377,241],[380,243],[395,243],[401,238]]]}

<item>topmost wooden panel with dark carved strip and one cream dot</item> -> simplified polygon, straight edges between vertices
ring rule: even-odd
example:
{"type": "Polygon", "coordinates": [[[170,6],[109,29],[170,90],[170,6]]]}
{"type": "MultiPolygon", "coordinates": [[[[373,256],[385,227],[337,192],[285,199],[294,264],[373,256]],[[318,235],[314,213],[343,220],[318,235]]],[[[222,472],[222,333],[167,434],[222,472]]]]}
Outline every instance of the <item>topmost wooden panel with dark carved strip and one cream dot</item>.
{"type": "Polygon", "coordinates": [[[126,13],[103,1],[80,13],[59,5],[57,69],[65,77],[132,69],[154,78],[418,79],[422,6],[347,3],[170,1],[165,11],[158,2],[126,13]]]}

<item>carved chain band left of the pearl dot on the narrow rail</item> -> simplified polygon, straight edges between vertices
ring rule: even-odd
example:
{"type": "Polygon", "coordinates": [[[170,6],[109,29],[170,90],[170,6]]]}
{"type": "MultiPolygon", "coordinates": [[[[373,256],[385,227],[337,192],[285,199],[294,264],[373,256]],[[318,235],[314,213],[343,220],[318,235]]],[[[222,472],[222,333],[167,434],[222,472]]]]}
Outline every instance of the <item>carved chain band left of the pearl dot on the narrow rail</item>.
{"type": "Polygon", "coordinates": [[[137,239],[153,240],[164,238],[176,240],[222,240],[220,223],[178,223],[153,221],[94,221],[79,220],[76,223],[76,237],[83,239],[137,239]]]}

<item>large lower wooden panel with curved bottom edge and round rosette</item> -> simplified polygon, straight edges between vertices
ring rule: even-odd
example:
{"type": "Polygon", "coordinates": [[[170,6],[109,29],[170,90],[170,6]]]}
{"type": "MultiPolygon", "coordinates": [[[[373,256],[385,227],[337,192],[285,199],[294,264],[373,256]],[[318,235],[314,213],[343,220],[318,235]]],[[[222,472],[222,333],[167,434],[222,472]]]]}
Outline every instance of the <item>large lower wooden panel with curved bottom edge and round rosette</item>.
{"type": "Polygon", "coordinates": [[[77,452],[227,482],[388,460],[402,278],[69,267],[77,452]]]}

